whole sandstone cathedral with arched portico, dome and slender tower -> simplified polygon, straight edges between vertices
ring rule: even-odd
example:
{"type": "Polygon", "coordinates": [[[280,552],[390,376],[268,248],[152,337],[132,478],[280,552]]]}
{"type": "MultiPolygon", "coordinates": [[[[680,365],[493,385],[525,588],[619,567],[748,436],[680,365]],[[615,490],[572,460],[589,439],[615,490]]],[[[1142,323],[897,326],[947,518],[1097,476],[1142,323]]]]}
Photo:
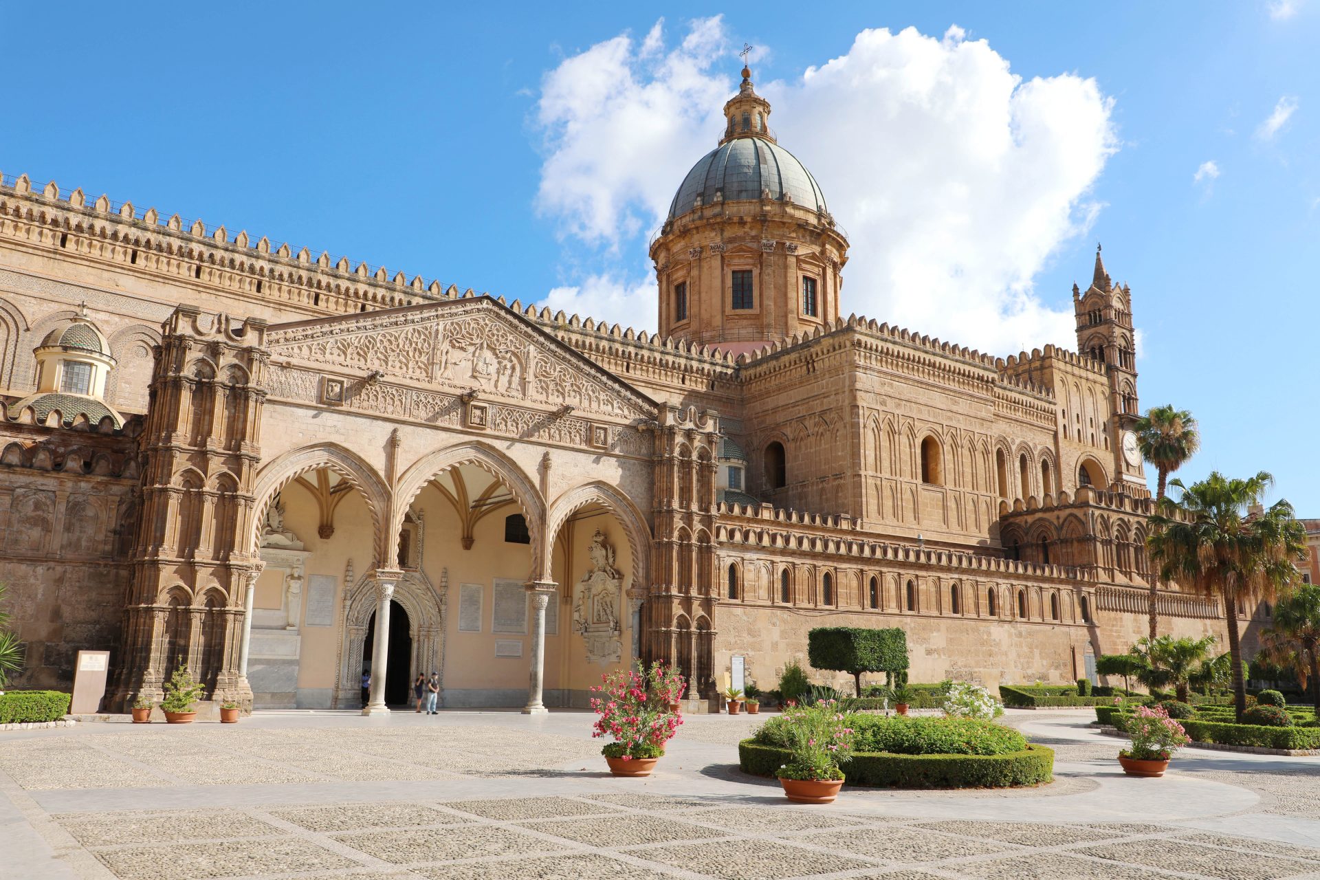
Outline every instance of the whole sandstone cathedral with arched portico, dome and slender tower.
{"type": "Polygon", "coordinates": [[[1094,678],[1151,587],[1131,290],[1097,252],[1076,352],[847,314],[770,113],[744,69],[651,244],[659,332],[0,178],[13,685],[98,649],[107,710],[186,668],[247,708],[437,673],[540,712],[634,658],[774,687],[821,625],[902,627],[912,681],[1094,678]]]}

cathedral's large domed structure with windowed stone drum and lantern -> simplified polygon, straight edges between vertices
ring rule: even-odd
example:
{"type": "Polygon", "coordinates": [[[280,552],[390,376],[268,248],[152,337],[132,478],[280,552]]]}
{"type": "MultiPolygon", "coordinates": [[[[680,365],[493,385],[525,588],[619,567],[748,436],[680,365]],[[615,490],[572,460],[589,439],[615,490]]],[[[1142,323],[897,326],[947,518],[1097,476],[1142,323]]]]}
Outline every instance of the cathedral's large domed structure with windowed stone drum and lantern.
{"type": "Polygon", "coordinates": [[[838,319],[847,239],[770,111],[743,67],[718,146],[688,172],[651,244],[663,336],[743,354],[838,319]]]}

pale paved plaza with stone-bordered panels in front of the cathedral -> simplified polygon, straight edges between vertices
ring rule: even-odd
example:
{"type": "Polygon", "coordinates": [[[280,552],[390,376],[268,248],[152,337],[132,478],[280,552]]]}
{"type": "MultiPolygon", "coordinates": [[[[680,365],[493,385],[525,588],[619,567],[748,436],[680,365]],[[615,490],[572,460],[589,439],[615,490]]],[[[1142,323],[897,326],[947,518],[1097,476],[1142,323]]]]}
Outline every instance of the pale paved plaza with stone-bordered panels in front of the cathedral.
{"type": "Polygon", "coordinates": [[[647,780],[605,772],[583,712],[12,732],[0,876],[1320,877],[1320,759],[1189,748],[1130,778],[1092,718],[1010,711],[1057,749],[1049,786],[825,807],[738,772],[747,716],[688,716],[647,780]]]}

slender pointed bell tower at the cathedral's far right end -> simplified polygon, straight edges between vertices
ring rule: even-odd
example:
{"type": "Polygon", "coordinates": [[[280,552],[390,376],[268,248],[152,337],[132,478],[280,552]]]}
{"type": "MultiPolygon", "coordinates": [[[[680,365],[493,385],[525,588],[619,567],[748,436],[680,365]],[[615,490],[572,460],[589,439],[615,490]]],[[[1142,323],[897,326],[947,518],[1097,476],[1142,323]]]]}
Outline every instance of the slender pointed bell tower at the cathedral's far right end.
{"type": "Polygon", "coordinates": [[[1081,292],[1073,285],[1073,313],[1077,319],[1077,351],[1105,364],[1109,377],[1107,426],[1114,474],[1122,482],[1146,488],[1142,458],[1135,451],[1133,425],[1140,417],[1137,398],[1137,346],[1133,329],[1133,292],[1115,285],[1105,270],[1101,247],[1096,245],[1096,270],[1090,286],[1081,292]]]}

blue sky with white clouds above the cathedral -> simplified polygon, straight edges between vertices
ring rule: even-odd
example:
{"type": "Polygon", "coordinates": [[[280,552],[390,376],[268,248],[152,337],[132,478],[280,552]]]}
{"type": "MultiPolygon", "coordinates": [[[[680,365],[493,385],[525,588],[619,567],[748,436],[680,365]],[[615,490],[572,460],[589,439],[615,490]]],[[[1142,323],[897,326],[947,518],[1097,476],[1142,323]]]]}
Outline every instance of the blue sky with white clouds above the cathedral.
{"type": "Polygon", "coordinates": [[[1320,516],[1320,0],[8,4],[0,170],[653,330],[647,243],[752,46],[843,311],[1076,348],[1097,243],[1179,472],[1320,516]]]}

